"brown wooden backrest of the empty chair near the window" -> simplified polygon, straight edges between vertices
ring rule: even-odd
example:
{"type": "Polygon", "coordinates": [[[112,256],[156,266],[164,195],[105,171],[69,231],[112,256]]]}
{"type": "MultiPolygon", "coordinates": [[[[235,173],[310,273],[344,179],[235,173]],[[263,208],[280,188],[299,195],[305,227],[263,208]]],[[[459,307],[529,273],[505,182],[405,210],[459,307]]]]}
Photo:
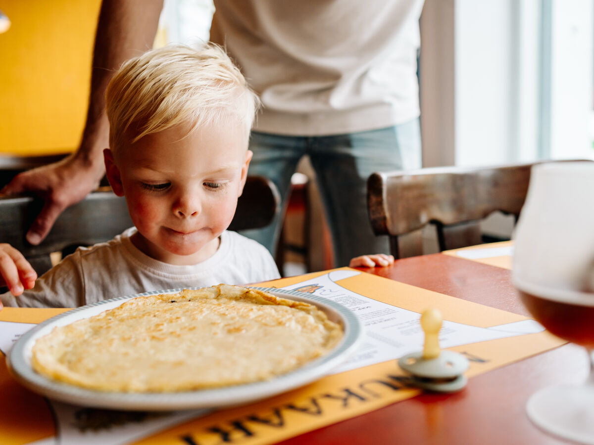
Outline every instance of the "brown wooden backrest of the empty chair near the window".
{"type": "Polygon", "coordinates": [[[390,236],[396,258],[422,255],[418,230],[429,223],[437,228],[440,250],[480,244],[479,222],[492,212],[517,220],[534,164],[374,173],[367,189],[374,233],[390,236]]]}

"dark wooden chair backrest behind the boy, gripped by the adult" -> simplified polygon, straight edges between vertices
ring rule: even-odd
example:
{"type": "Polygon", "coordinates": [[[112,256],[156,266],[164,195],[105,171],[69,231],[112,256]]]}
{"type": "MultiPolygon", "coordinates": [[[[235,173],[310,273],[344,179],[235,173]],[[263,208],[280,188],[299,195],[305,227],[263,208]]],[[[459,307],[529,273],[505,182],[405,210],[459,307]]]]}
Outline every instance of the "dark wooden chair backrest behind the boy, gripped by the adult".
{"type": "MultiPolygon", "coordinates": [[[[42,205],[42,201],[30,196],[0,195],[0,243],[20,250],[39,275],[51,268],[50,253],[67,254],[78,246],[107,241],[132,226],[125,199],[109,187],[100,187],[65,209],[42,243],[33,246],[25,236],[42,205]]],[[[280,195],[274,183],[265,177],[248,176],[229,229],[264,227],[279,208],[280,195]]]]}

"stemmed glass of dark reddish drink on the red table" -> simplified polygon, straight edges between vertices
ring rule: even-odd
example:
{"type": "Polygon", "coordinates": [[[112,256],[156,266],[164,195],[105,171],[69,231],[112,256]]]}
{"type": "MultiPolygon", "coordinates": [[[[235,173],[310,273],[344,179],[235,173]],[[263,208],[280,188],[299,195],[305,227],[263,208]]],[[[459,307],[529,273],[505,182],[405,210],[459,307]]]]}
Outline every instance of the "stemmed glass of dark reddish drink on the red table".
{"type": "Polygon", "coordinates": [[[549,332],[586,348],[583,384],[545,387],[527,402],[542,429],[594,444],[594,162],[537,164],[514,231],[513,283],[549,332]]]}

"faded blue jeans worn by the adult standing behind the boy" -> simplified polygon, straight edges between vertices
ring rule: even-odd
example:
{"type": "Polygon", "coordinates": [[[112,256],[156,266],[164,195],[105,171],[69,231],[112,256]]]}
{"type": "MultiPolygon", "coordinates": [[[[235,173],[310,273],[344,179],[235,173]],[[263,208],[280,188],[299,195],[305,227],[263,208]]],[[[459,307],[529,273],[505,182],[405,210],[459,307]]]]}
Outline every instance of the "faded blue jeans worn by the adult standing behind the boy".
{"type": "Polygon", "coordinates": [[[376,237],[367,212],[367,179],[375,171],[421,167],[419,120],[393,127],[334,136],[282,136],[252,132],[249,174],[270,178],[282,198],[280,215],[268,227],[242,231],[271,253],[276,250],[290,179],[309,155],[334,246],[336,267],[355,256],[390,253],[386,236],[376,237]]]}

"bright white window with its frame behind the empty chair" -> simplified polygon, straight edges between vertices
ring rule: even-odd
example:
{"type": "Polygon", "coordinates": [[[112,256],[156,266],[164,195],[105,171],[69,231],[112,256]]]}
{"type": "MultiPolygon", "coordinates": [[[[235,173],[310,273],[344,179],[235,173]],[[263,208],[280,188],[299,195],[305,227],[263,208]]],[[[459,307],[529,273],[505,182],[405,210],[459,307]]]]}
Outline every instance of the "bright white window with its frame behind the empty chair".
{"type": "Polygon", "coordinates": [[[424,165],[594,158],[593,22],[591,0],[426,0],[424,165]]]}

